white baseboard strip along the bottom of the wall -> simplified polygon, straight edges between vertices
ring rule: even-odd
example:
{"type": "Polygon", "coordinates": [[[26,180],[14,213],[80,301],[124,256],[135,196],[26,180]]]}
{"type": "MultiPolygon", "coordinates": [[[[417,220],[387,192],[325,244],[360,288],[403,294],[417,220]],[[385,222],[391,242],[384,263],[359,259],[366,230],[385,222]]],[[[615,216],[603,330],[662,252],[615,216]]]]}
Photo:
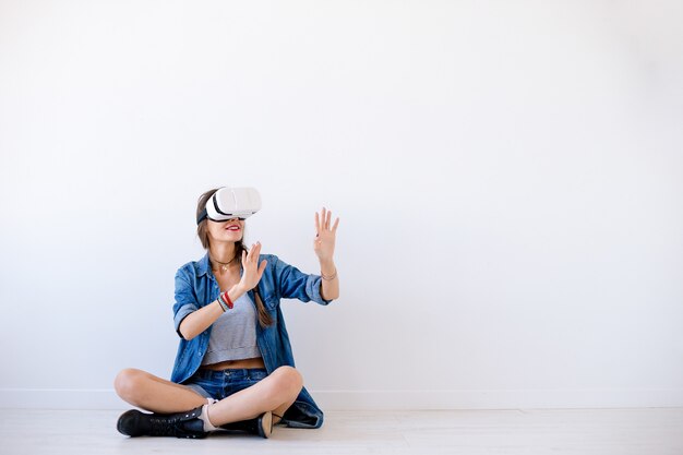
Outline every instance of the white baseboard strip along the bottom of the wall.
{"type": "MultiPolygon", "coordinates": [[[[683,390],[310,391],[326,410],[683,407],[683,390]]],[[[0,408],[125,409],[111,388],[0,388],[0,408]]]]}

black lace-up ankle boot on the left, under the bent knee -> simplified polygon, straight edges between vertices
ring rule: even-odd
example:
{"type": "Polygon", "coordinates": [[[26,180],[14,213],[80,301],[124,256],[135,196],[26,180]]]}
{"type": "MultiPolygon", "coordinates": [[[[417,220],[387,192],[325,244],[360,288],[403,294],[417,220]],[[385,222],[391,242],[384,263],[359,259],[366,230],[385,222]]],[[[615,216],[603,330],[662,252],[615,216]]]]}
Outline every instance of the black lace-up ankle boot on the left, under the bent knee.
{"type": "Polygon", "coordinates": [[[204,421],[199,419],[202,407],[185,412],[144,414],[136,409],[119,417],[117,429],[128,436],[206,438],[204,421]]]}

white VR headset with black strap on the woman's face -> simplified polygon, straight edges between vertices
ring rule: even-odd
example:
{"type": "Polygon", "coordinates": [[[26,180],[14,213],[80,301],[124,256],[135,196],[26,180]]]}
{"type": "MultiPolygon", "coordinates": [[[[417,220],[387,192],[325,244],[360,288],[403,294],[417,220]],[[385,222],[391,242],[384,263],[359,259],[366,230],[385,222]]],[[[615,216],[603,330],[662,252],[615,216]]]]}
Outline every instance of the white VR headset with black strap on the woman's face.
{"type": "Polygon", "coordinates": [[[231,218],[245,219],[261,209],[261,195],[254,188],[223,187],[206,201],[206,206],[196,218],[199,225],[205,218],[227,221],[231,218]]]}

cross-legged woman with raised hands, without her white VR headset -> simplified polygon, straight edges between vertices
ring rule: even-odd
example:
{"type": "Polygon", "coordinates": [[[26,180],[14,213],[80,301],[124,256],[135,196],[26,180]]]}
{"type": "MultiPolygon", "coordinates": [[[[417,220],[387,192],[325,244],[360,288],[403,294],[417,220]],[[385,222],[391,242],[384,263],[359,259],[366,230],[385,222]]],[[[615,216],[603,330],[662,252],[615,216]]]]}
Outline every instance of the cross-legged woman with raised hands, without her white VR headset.
{"type": "Polygon", "coordinates": [[[116,378],[122,399],[153,412],[124,412],[117,426],[123,434],[205,438],[221,428],[268,438],[275,423],[323,423],[295,369],[279,304],[280,298],[327,304],[339,297],[333,260],[339,218],[331,227],[331,212],[315,213],[313,251],[321,276],[308,275],[261,254],[260,242],[247,250],[244,217],[207,219],[206,209],[213,208],[207,203],[218,190],[197,204],[197,236],[206,254],[176,274],[173,313],[181,339],[171,381],[135,369],[116,378]]]}

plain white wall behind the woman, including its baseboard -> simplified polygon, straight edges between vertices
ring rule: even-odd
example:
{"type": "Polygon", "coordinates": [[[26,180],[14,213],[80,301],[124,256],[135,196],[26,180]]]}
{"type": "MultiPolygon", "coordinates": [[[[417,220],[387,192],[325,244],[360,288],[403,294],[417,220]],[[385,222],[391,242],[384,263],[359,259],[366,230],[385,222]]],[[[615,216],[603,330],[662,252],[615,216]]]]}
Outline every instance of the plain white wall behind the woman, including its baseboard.
{"type": "Polygon", "coordinates": [[[0,406],[169,375],[220,184],[305,272],[342,218],[327,409],[683,406],[680,4],[0,2],[0,406]]]}

